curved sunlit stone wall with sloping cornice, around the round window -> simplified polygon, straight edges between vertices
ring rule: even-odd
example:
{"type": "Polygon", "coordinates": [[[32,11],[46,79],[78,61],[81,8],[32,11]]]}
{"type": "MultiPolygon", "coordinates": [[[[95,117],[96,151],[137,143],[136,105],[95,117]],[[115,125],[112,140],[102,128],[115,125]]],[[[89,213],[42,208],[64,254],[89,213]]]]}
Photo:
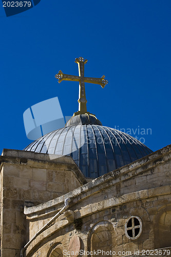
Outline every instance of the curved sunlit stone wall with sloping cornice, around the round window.
{"type": "Polygon", "coordinates": [[[27,256],[53,256],[55,248],[56,252],[57,248],[69,250],[74,236],[80,237],[80,248],[85,251],[107,242],[106,249],[111,247],[118,256],[132,255],[138,250],[170,247],[170,152],[171,148],[167,146],[66,195],[43,205],[26,208],[31,238],[37,232],[37,227],[40,229],[63,207],[64,199],[71,199],[68,211],[37,236],[27,248],[27,256]],[[126,235],[125,224],[135,216],[142,221],[142,232],[131,239],[126,235]],[[80,230],[74,227],[75,219],[79,218],[83,222],[80,230]],[[129,254],[120,255],[119,251],[129,254]]]}

